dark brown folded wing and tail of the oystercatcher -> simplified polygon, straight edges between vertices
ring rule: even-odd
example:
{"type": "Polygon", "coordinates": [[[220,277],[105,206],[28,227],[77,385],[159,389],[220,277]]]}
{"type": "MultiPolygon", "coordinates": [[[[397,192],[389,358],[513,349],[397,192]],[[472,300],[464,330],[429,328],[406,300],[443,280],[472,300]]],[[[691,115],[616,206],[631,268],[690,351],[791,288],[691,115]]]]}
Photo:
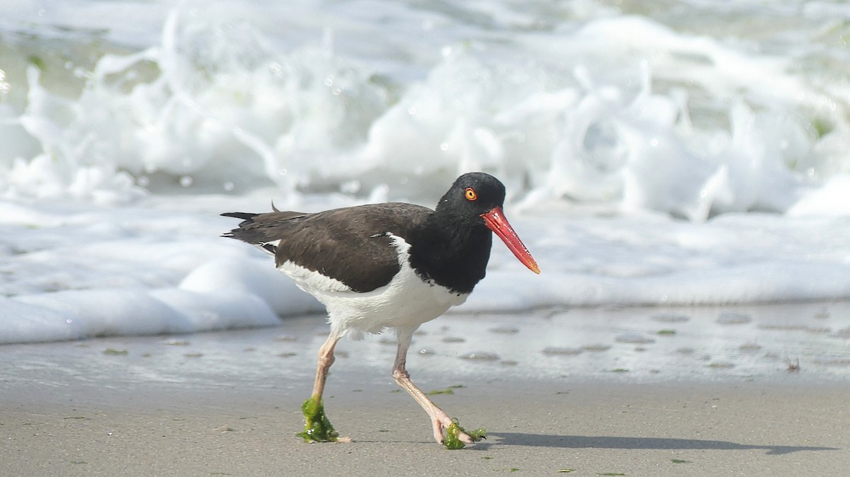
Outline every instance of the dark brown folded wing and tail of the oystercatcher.
{"type": "Polygon", "coordinates": [[[398,251],[389,233],[410,233],[433,213],[411,204],[358,205],[316,214],[275,211],[223,214],[244,219],[225,237],[255,244],[275,255],[278,267],[292,261],[336,278],[358,292],[389,283],[399,272],[398,251]]]}

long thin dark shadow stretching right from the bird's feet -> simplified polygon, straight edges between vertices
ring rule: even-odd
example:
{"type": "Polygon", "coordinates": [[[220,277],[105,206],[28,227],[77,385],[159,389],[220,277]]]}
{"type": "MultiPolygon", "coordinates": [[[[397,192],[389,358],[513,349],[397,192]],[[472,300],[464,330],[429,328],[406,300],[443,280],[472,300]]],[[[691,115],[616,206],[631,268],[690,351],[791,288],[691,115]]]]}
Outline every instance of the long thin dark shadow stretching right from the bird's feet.
{"type": "MultiPolygon", "coordinates": [[[[547,435],[515,432],[494,432],[476,447],[488,446],[562,447],[564,449],[698,449],[715,451],[749,451],[764,449],[768,455],[803,451],[838,451],[836,447],[815,446],[758,446],[727,441],[673,439],[663,437],[615,437],[610,435],[547,435]]],[[[483,450],[483,449],[482,449],[483,450]]]]}

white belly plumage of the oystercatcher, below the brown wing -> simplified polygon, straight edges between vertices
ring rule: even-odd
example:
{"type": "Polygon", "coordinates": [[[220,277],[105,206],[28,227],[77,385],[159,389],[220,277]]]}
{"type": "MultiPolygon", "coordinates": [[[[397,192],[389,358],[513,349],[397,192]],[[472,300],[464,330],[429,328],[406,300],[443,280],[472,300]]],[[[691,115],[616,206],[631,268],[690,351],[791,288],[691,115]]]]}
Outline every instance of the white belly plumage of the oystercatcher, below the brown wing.
{"type": "Polygon", "coordinates": [[[416,328],[467,300],[467,294],[422,281],[408,260],[411,245],[398,236],[389,236],[399,253],[400,270],[390,283],[371,292],[354,292],[345,283],[292,261],[280,265],[278,270],[327,307],[331,332],[342,335],[354,330],[358,332],[352,334],[354,338],[362,336],[362,332],[380,333],[383,328],[416,328]]]}

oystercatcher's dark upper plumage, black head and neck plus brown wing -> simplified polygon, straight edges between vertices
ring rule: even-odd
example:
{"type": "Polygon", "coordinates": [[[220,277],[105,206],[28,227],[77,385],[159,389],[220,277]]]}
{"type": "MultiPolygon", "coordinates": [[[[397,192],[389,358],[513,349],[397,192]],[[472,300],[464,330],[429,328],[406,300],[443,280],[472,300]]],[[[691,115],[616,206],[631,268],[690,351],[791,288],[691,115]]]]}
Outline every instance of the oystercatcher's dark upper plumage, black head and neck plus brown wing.
{"type": "Polygon", "coordinates": [[[398,252],[388,234],[411,245],[410,265],[423,279],[456,293],[470,293],[484,278],[492,233],[481,214],[501,206],[505,188],[495,177],[473,172],[458,177],[436,210],[388,203],[358,205],[316,214],[231,212],[241,218],[224,237],[255,244],[275,255],[335,278],[356,292],[369,292],[399,272],[398,252]],[[476,194],[467,199],[467,189],[476,194]],[[277,242],[280,240],[280,242],[277,242]]]}

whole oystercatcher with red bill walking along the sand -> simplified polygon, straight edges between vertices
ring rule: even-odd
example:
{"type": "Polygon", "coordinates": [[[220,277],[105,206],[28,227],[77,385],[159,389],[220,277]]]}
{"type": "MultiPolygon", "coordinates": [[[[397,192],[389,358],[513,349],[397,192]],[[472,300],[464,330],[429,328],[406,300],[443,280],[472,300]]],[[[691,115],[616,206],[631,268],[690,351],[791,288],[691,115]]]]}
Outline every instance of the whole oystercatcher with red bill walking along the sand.
{"type": "Polygon", "coordinates": [[[428,412],[434,440],[444,443],[448,434],[467,444],[479,439],[413,384],[405,361],[416,328],[462,304],[484,278],[491,232],[540,273],[502,212],[504,200],[505,186],[496,177],[471,172],[457,178],[436,210],[388,203],[314,214],[274,207],[263,214],[222,214],[244,221],[224,237],[274,255],[280,272],[327,308],[331,334],[320,347],[313,395],[303,405],[305,440],[337,441],[322,406],[337,341],[348,332],[356,337],[386,328],[398,337],[393,378],[428,412]]]}

